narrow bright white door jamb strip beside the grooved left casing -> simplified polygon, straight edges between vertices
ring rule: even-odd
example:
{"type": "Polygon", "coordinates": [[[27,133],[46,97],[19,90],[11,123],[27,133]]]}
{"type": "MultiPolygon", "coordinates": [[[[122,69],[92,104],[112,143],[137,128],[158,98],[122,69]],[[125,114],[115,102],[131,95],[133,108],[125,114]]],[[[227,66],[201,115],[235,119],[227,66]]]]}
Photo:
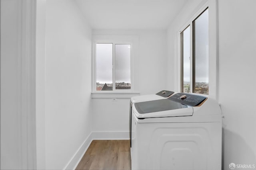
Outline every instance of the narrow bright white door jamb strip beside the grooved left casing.
{"type": "Polygon", "coordinates": [[[36,0],[36,169],[46,169],[45,41],[46,0],[36,0]]]}

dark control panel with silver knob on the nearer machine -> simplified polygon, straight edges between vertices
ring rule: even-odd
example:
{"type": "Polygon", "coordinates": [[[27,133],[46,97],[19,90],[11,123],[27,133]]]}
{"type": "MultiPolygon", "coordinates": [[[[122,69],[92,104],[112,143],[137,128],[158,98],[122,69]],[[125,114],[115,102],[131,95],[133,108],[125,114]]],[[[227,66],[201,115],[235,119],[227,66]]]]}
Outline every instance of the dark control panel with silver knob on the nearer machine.
{"type": "Polygon", "coordinates": [[[194,94],[177,93],[168,99],[188,106],[198,106],[206,100],[206,97],[194,94]]]}

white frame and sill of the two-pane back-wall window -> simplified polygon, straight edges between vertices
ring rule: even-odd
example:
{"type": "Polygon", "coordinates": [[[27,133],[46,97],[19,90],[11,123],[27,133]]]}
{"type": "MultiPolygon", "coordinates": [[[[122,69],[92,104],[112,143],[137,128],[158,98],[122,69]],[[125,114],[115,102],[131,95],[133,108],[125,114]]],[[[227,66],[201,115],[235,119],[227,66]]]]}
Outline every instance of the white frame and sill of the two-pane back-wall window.
{"type": "MultiPolygon", "coordinates": [[[[93,35],[92,36],[92,98],[106,98],[107,95],[102,96],[101,94],[108,94],[108,96],[115,97],[113,94],[137,94],[134,92],[136,89],[136,83],[134,82],[134,58],[138,51],[138,36],[126,36],[126,35],[93,35]],[[97,43],[112,43],[113,55],[112,55],[112,82],[113,90],[96,90],[96,44],[97,43]],[[130,89],[115,89],[115,45],[116,44],[130,44],[130,76],[131,76],[131,88],[130,89]],[[97,96],[97,94],[100,94],[97,96]]],[[[122,98],[122,96],[121,96],[122,98]]]]}

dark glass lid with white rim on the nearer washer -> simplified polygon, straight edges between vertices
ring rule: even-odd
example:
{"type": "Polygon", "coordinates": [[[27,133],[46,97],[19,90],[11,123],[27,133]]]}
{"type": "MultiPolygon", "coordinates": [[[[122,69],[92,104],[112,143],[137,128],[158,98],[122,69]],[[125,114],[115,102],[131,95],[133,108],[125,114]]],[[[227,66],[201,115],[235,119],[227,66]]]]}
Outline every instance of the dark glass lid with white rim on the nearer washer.
{"type": "Polygon", "coordinates": [[[193,108],[168,99],[152,100],[134,104],[138,118],[192,116],[193,108]]]}

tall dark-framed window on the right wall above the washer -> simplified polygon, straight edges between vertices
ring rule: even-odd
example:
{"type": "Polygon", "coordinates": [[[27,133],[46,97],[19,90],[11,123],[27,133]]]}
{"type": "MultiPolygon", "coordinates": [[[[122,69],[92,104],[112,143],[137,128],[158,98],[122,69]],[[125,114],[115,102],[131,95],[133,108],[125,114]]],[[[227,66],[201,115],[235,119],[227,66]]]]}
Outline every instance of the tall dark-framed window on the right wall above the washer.
{"type": "Polygon", "coordinates": [[[208,8],[206,8],[180,33],[181,92],[209,94],[208,30],[208,8]]]}

